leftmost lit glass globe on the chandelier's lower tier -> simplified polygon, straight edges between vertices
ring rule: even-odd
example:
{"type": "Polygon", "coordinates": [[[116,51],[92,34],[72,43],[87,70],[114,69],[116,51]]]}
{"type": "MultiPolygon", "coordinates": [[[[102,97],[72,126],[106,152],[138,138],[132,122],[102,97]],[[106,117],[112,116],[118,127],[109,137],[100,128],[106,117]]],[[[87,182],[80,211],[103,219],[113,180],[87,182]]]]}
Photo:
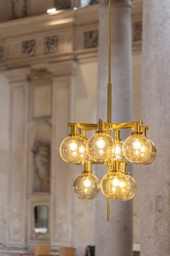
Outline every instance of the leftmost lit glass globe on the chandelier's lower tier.
{"type": "Polygon", "coordinates": [[[77,176],[72,188],[80,199],[94,199],[100,192],[98,178],[93,173],[82,173],[77,176]]]}

